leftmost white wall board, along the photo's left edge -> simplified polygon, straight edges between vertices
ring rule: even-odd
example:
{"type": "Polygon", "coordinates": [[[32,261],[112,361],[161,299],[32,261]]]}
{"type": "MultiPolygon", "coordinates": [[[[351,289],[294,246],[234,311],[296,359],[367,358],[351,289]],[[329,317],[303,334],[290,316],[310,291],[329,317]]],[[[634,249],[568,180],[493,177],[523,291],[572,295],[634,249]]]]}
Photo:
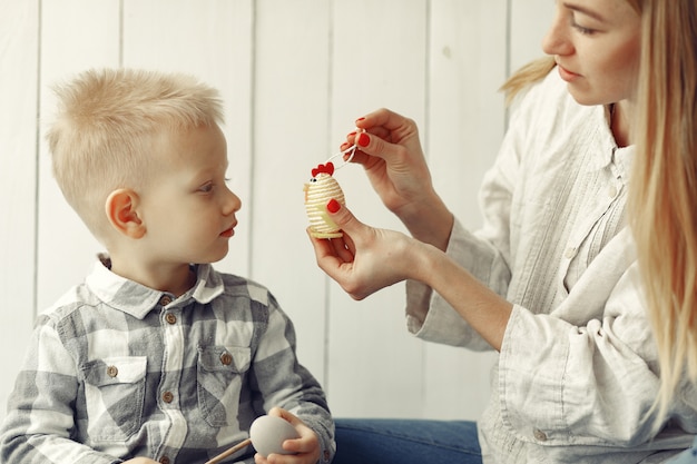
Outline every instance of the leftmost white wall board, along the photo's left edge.
{"type": "Polygon", "coordinates": [[[38,1],[0,1],[0,421],[35,319],[38,1]]]}

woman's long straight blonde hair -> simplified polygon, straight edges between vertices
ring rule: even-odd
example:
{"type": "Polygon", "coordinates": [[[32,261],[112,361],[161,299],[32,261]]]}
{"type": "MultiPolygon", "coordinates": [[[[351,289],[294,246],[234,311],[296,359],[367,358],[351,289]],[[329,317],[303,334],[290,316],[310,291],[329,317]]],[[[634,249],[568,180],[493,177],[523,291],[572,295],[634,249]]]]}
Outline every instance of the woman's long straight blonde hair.
{"type": "MultiPolygon", "coordinates": [[[[641,14],[629,217],[660,364],[658,418],[685,375],[697,382],[697,1],[627,0],[641,14]]],[[[502,86],[507,101],[554,67],[502,86]]]]}

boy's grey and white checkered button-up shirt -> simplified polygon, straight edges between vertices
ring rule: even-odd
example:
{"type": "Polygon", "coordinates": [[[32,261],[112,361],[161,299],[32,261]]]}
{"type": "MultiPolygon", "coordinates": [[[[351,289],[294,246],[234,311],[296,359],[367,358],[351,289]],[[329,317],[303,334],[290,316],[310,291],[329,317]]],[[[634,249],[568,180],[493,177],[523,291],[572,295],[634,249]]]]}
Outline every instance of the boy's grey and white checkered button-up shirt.
{"type": "MultiPolygon", "coordinates": [[[[157,292],[97,263],[43,313],[17,378],[0,462],[200,464],[248,437],[273,406],[333,457],[334,425],[295,332],[269,292],[196,267],[188,293],[157,292]]],[[[253,463],[247,447],[226,462],[253,463]]]]}

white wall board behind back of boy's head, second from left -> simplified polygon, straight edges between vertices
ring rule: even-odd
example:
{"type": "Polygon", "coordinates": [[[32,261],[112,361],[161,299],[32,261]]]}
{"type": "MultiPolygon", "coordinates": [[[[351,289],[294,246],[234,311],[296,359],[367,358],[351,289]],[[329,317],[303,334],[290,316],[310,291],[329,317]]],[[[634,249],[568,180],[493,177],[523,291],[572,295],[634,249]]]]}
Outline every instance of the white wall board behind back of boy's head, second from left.
{"type": "MultiPolygon", "coordinates": [[[[51,86],[91,67],[118,66],[118,0],[42,2],[41,118],[50,120],[56,98],[51,86]]],[[[51,305],[82,282],[104,247],[68,206],[53,180],[41,126],[39,152],[38,308],[51,305]]]]}

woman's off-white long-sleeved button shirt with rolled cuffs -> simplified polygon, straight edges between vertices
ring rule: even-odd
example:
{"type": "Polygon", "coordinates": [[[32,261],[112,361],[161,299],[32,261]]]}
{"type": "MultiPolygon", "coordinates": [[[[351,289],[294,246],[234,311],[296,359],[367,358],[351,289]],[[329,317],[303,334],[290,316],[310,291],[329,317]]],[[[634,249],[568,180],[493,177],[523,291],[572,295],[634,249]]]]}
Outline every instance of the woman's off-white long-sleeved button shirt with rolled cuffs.
{"type": "MultiPolygon", "coordinates": [[[[514,304],[479,422],[485,464],[662,462],[697,432],[689,385],[669,430],[655,437],[645,417],[659,379],[625,220],[634,151],[552,71],[484,178],[482,229],[452,230],[448,254],[514,304]]],[[[490,349],[422,284],[408,283],[406,314],[421,338],[490,349]]]]}

